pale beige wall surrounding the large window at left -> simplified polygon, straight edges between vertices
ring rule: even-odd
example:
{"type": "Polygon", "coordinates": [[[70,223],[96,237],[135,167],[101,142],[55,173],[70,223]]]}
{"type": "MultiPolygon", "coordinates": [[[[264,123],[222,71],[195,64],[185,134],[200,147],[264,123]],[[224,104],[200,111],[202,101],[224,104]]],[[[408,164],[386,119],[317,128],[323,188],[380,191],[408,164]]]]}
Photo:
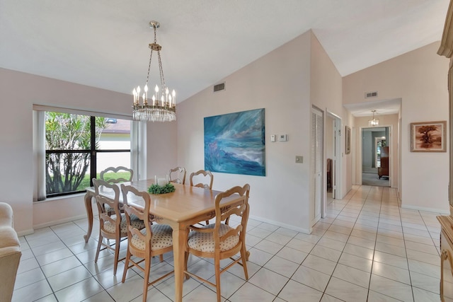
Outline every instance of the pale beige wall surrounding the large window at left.
{"type": "MultiPolygon", "coordinates": [[[[33,104],[131,115],[131,95],[0,69],[0,103],[0,200],[13,207],[16,231],[86,217],[83,195],[33,203],[33,104]]],[[[176,163],[176,123],[148,128],[149,144],[154,142],[147,156],[151,174],[154,166],[160,171],[162,163],[176,163]]]]}

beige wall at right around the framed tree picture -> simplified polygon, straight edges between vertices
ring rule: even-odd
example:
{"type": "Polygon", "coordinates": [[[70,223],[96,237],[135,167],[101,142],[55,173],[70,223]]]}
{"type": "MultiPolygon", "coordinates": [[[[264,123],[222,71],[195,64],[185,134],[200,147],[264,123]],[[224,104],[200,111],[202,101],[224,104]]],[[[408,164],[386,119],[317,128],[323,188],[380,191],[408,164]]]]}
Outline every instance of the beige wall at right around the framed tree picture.
{"type": "MultiPolygon", "coordinates": [[[[448,153],[411,152],[411,122],[448,120],[448,59],[436,54],[439,42],[389,59],[343,78],[343,103],[401,98],[402,207],[448,211],[448,153]]],[[[448,146],[448,145],[447,145],[448,146]]]]}

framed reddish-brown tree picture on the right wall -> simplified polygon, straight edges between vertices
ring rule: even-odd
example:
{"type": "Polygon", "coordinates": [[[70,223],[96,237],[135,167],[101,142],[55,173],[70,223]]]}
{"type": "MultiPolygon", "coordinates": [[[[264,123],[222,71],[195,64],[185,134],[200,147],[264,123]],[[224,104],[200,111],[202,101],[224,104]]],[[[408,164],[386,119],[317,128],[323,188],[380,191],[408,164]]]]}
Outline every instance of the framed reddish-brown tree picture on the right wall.
{"type": "Polygon", "coordinates": [[[412,122],[411,152],[446,152],[447,122],[412,122]]]}

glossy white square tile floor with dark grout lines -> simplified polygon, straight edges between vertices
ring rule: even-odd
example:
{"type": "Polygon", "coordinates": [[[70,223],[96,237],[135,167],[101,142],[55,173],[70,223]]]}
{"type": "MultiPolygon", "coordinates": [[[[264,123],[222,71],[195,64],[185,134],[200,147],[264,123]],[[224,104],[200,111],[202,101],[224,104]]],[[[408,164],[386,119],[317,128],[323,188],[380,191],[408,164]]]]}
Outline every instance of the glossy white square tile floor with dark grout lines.
{"type": "MultiPolygon", "coordinates": [[[[435,216],[399,208],[389,187],[354,186],[345,199],[328,203],[327,217],[311,235],[250,219],[249,279],[239,265],[222,274],[222,301],[439,301],[435,216]]],[[[96,238],[84,243],[86,226],[82,219],[20,238],[13,301],[142,301],[142,273],[130,270],[122,284],[124,265],[114,276],[108,251],[95,264],[96,238]]],[[[170,253],[151,275],[172,265],[170,253]]],[[[214,275],[212,262],[193,257],[189,265],[214,275]]],[[[173,301],[173,278],[151,286],[148,301],[173,301]]],[[[186,280],[183,291],[183,301],[215,301],[212,288],[195,279],[186,280]]]]}

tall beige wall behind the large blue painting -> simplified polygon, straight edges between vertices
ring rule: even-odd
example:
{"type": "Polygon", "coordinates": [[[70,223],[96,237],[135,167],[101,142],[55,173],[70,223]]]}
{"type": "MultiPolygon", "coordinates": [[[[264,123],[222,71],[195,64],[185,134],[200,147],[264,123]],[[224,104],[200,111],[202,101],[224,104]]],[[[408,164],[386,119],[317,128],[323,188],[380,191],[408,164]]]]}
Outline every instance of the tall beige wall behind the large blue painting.
{"type": "MultiPolygon", "coordinates": [[[[226,190],[248,182],[252,218],[305,232],[311,228],[311,59],[318,51],[311,50],[311,38],[311,32],[300,35],[219,80],[226,82],[225,91],[212,93],[210,86],[178,107],[178,164],[184,165],[188,174],[204,168],[204,117],[265,108],[266,176],[214,173],[213,187],[226,190]],[[289,140],[270,142],[271,134],[288,134],[289,140]],[[304,163],[295,163],[297,155],[304,156],[304,163]]],[[[341,87],[339,83],[335,85],[341,87]]],[[[323,88],[329,85],[335,86],[324,79],[323,88]]]]}

